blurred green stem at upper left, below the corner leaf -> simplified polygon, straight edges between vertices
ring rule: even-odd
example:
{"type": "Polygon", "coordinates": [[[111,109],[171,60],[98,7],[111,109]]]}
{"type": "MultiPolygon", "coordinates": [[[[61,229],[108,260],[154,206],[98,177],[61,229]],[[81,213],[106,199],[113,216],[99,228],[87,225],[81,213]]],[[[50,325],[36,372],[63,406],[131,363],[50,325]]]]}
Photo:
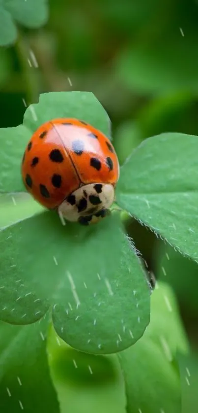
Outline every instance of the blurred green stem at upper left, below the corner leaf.
{"type": "Polygon", "coordinates": [[[38,102],[38,75],[37,73],[35,73],[35,69],[30,61],[30,49],[28,46],[28,41],[20,33],[18,33],[15,49],[25,81],[26,103],[27,105],[29,105],[30,103],[38,102]]]}

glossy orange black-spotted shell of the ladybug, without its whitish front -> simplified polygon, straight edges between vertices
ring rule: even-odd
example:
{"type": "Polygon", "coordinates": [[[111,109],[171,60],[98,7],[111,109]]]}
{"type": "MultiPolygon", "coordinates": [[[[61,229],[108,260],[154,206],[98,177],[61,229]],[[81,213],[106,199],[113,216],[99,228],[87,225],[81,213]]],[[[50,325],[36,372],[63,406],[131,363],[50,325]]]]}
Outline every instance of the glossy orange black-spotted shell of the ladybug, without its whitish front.
{"type": "Polygon", "coordinates": [[[115,184],[119,164],[110,140],[83,121],[70,118],[44,123],[28,142],[22,176],[28,192],[55,208],[83,184],[115,184]]]}

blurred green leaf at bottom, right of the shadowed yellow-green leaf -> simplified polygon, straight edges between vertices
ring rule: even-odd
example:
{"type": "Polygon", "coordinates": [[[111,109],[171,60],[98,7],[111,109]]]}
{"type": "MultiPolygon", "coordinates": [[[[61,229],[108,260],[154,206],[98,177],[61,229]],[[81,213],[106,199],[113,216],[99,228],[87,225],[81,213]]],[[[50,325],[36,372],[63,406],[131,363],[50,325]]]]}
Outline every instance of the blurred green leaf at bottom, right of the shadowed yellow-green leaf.
{"type": "Polygon", "coordinates": [[[125,379],[127,413],[181,413],[178,373],[151,340],[118,353],[125,379]]]}

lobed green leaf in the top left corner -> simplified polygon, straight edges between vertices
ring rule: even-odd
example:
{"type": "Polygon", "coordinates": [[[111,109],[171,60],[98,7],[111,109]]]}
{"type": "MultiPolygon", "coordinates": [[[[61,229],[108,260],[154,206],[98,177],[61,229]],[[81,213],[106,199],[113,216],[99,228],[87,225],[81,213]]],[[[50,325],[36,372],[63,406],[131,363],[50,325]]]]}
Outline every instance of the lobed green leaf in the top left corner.
{"type": "Polygon", "coordinates": [[[47,0],[0,0],[0,46],[15,42],[15,20],[30,29],[44,25],[48,19],[47,3],[47,0]]]}

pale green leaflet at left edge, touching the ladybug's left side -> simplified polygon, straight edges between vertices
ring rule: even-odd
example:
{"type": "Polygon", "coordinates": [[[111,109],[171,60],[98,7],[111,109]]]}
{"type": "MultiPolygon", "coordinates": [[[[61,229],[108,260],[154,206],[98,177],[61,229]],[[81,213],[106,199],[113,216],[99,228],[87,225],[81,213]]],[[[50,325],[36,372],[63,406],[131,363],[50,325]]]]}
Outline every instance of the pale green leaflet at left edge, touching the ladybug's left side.
{"type": "Polygon", "coordinates": [[[0,192],[25,191],[21,162],[30,137],[24,125],[0,129],[0,192]]]}

